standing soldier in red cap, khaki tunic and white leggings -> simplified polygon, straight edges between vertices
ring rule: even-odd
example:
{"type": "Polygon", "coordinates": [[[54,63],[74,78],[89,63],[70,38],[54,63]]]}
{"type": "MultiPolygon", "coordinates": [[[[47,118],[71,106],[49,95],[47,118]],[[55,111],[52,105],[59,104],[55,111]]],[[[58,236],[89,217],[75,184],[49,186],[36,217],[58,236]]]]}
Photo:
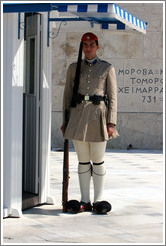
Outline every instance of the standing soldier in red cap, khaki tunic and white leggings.
{"type": "Polygon", "coordinates": [[[68,201],[70,212],[105,214],[111,211],[111,204],[103,200],[104,154],[107,141],[118,136],[117,83],[113,65],[96,55],[98,48],[98,37],[91,32],[85,33],[81,38],[78,61],[70,64],[67,71],[61,130],[65,139],[72,139],[77,153],[81,192],[80,201],[68,201]]]}

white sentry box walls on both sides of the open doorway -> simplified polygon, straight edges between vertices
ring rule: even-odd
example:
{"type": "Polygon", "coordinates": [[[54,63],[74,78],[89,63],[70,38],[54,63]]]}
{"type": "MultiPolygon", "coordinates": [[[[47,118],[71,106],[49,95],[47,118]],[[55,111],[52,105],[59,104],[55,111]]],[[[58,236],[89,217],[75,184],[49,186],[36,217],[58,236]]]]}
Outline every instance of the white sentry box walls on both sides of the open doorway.
{"type": "MultiPolygon", "coordinates": [[[[24,18],[24,14],[21,14],[24,18]]],[[[41,162],[39,203],[49,196],[51,134],[51,44],[47,47],[47,13],[42,13],[41,50],[41,162]]],[[[24,32],[18,39],[18,14],[3,15],[3,217],[22,215],[22,127],[24,32]]]]}

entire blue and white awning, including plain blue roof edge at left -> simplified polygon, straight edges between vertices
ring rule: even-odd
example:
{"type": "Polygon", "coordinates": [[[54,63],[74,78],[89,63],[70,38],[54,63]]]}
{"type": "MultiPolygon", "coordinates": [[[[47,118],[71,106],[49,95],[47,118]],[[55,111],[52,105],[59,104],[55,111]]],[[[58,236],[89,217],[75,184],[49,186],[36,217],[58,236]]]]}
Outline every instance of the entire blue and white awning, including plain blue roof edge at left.
{"type": "Polygon", "coordinates": [[[4,3],[3,12],[69,12],[76,18],[49,18],[48,21],[89,21],[93,24],[100,24],[101,28],[108,29],[109,24],[117,24],[117,29],[125,29],[125,26],[146,33],[146,23],[116,3],[4,3]]]}

